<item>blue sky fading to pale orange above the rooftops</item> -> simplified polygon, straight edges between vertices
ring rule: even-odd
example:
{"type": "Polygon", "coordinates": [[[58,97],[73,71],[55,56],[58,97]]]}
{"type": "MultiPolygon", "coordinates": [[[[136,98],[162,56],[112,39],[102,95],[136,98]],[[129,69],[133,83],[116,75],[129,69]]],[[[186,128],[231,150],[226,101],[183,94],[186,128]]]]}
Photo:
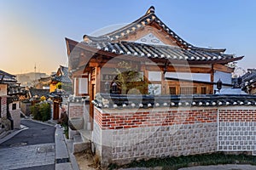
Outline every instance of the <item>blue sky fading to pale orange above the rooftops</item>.
{"type": "Polygon", "coordinates": [[[67,66],[65,37],[82,41],[102,28],[128,24],[153,5],[172,31],[197,47],[226,48],[256,64],[254,0],[0,0],[0,70],[50,74],[67,66]]]}

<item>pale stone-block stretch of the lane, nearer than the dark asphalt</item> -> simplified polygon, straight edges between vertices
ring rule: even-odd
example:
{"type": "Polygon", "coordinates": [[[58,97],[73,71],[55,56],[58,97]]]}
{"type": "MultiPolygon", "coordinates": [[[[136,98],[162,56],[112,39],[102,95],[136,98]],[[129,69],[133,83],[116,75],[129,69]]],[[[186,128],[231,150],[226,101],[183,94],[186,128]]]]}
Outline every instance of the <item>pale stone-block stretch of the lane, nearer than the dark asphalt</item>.
{"type": "Polygon", "coordinates": [[[55,163],[55,143],[23,145],[0,150],[0,169],[17,169],[55,163]]]}

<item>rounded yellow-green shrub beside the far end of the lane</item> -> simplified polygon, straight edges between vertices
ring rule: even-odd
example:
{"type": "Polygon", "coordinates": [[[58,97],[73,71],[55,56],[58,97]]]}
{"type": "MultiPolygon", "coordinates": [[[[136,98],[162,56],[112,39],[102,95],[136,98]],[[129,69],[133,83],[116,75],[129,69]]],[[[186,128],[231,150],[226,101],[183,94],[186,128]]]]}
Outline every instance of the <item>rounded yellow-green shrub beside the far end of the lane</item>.
{"type": "Polygon", "coordinates": [[[48,121],[50,119],[50,105],[49,103],[38,103],[32,105],[31,112],[33,118],[38,121],[48,121]]]}

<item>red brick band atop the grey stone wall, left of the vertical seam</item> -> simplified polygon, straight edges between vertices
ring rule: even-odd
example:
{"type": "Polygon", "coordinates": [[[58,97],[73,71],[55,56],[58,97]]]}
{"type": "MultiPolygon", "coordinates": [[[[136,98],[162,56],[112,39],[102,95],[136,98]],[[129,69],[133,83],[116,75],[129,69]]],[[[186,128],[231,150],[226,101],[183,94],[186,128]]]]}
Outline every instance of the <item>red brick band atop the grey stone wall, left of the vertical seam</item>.
{"type": "MultiPolygon", "coordinates": [[[[126,110],[127,111],[127,110],[126,110]]],[[[203,110],[134,110],[134,111],[95,111],[95,121],[102,129],[133,127],[172,126],[199,122],[217,122],[217,109],[203,110]],[[111,113],[110,113],[111,112],[111,113]]]]}

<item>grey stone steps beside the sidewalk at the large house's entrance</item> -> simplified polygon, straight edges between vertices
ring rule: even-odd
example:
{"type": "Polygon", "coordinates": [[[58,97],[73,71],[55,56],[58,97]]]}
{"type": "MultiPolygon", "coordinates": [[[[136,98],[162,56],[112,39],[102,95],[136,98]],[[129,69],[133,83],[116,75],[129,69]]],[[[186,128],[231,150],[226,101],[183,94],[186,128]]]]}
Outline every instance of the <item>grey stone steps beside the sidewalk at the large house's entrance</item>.
{"type": "Polygon", "coordinates": [[[84,142],[80,134],[73,136],[73,154],[90,150],[90,141],[84,142]]]}

